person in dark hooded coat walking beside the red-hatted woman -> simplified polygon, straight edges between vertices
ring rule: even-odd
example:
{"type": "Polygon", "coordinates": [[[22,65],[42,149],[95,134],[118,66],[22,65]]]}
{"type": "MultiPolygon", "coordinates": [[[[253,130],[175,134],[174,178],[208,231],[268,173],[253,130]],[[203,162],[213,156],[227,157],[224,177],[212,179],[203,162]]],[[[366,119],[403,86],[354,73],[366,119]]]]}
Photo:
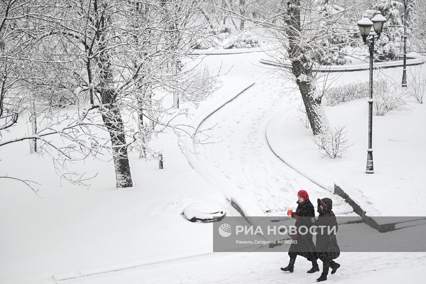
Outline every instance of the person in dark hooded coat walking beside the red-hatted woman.
{"type": "Polygon", "coordinates": [[[317,282],[327,280],[328,270],[331,267],[331,274],[334,274],[340,267],[340,264],[334,261],[340,255],[340,248],[337,245],[336,234],[339,226],[337,225],[336,216],[331,210],[333,208],[333,201],[330,198],[318,198],[318,220],[312,218],[312,223],[317,226],[317,242],[315,248],[317,249],[317,256],[322,261],[322,273],[317,282]],[[321,230],[320,226],[323,230],[321,230]],[[332,231],[335,226],[335,231],[332,231]],[[330,229],[330,231],[329,231],[330,229]]]}

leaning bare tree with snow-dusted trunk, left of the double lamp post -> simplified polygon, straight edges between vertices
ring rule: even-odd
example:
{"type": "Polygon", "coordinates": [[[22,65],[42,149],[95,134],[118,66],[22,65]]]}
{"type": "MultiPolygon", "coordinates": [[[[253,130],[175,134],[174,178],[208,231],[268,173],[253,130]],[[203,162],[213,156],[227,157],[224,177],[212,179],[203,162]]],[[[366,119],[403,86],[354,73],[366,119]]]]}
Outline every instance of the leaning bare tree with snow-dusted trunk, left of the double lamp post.
{"type": "Polygon", "coordinates": [[[362,1],[354,1],[348,7],[328,0],[287,0],[277,7],[271,5],[269,10],[259,9],[262,17],[236,15],[273,34],[278,46],[271,56],[281,63],[280,76],[295,81],[314,135],[329,128],[315,70],[320,64],[339,64],[332,61],[343,62],[350,56],[345,47],[353,42],[351,35],[357,22],[354,8],[360,4],[362,1]]]}

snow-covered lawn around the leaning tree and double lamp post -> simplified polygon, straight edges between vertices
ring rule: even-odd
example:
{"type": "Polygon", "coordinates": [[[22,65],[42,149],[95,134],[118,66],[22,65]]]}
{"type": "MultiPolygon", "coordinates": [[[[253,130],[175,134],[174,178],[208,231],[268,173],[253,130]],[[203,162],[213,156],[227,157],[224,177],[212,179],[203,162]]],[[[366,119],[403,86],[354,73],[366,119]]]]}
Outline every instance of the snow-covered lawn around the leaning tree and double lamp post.
{"type": "MultiPolygon", "coordinates": [[[[409,67],[417,72],[426,68],[409,67]]],[[[377,72],[377,71],[376,71],[377,72]]],[[[397,78],[400,72],[382,70],[397,78]]],[[[338,83],[361,78],[361,72],[343,73],[338,83]]],[[[399,81],[399,80],[398,80],[399,81]]],[[[365,99],[326,107],[333,127],[346,125],[353,145],[342,159],[321,158],[309,130],[298,125],[294,108],[280,111],[268,125],[267,137],[274,153],[301,174],[333,190],[339,185],[368,216],[425,216],[420,200],[426,197],[424,104],[407,101],[406,109],[373,117],[374,174],[365,174],[368,141],[368,103],[365,99]],[[402,197],[402,200],[401,200],[402,197]],[[409,202],[408,200],[411,200],[409,202]],[[409,206],[406,206],[410,203],[409,206]],[[398,209],[404,207],[403,211],[398,209]]]]}

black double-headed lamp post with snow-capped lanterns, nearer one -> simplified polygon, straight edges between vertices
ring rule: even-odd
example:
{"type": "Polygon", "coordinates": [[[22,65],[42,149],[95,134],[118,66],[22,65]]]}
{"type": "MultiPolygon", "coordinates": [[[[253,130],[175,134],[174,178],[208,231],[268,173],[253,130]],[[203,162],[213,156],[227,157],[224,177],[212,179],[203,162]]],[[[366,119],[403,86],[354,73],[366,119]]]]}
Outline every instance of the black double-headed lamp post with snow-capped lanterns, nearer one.
{"type": "Polygon", "coordinates": [[[377,39],[383,31],[383,25],[386,22],[386,18],[377,13],[371,20],[367,17],[363,17],[358,21],[358,27],[360,28],[361,36],[363,37],[364,43],[367,43],[368,50],[370,52],[370,97],[368,99],[368,149],[367,149],[367,174],[374,174],[373,166],[373,145],[372,145],[372,134],[373,134],[373,57],[374,57],[374,38],[377,35],[377,39]],[[373,27],[374,31],[371,30],[373,27]]]}

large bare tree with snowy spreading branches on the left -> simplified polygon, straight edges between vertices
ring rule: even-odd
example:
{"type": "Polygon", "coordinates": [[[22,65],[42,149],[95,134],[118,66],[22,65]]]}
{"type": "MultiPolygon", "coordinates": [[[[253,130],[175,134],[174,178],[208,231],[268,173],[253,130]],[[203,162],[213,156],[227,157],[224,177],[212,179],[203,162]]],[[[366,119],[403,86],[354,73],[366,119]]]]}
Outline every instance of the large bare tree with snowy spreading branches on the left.
{"type": "Polygon", "coordinates": [[[0,147],[39,140],[38,147],[54,157],[59,173],[79,184],[85,179],[72,179],[75,173],[67,172],[66,162],[107,151],[116,186],[129,187],[129,151],[155,158],[157,151],[148,145],[153,133],[171,129],[179,137],[193,135],[187,125],[173,123],[187,110],[167,107],[163,100],[178,94],[180,100],[198,104],[211,91],[212,75],[200,78],[195,68],[177,64],[190,58],[189,47],[202,36],[199,1],[18,2],[5,4],[0,29],[5,70],[0,130],[16,124],[31,99],[41,107],[45,126],[32,135],[2,138],[0,147]],[[31,12],[23,14],[22,6],[31,12]],[[26,40],[23,24],[14,33],[8,30],[17,14],[30,23],[26,40]],[[15,41],[9,40],[12,35],[15,41]],[[27,56],[22,56],[27,46],[27,56]],[[25,93],[17,95],[21,90],[25,93]],[[69,105],[77,109],[67,109],[69,105]],[[53,136],[61,139],[48,139],[53,136]]]}

